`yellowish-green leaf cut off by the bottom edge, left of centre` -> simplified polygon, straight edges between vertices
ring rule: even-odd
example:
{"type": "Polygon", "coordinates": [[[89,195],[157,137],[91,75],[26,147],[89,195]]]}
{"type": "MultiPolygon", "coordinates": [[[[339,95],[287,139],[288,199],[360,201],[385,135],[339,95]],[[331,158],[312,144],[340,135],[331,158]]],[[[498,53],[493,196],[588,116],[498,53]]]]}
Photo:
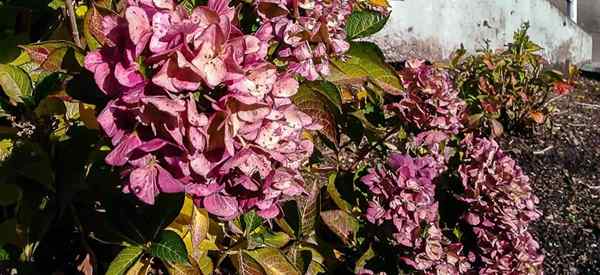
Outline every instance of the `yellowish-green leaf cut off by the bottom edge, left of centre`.
{"type": "Polygon", "coordinates": [[[247,253],[262,266],[267,275],[300,274],[296,267],[278,249],[260,248],[247,253]]]}

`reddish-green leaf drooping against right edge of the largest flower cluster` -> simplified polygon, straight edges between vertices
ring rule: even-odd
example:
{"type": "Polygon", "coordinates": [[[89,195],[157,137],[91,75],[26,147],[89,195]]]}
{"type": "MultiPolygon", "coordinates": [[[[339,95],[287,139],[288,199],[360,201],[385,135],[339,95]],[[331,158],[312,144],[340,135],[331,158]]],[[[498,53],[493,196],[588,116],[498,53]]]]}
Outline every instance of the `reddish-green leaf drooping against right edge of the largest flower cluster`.
{"type": "Polygon", "coordinates": [[[301,85],[293,101],[302,112],[323,126],[320,132],[337,146],[339,141],[337,123],[333,110],[327,103],[328,100],[310,86],[301,85]]]}

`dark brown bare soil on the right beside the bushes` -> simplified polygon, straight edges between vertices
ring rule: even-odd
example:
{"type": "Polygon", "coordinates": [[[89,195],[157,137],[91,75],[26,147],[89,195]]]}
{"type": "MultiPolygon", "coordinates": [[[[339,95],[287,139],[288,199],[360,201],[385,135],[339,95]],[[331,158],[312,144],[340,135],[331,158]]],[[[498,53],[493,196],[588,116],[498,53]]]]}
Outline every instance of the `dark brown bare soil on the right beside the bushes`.
{"type": "Polygon", "coordinates": [[[600,274],[600,82],[556,101],[549,127],[501,143],[530,176],[545,274],[600,274]]]}

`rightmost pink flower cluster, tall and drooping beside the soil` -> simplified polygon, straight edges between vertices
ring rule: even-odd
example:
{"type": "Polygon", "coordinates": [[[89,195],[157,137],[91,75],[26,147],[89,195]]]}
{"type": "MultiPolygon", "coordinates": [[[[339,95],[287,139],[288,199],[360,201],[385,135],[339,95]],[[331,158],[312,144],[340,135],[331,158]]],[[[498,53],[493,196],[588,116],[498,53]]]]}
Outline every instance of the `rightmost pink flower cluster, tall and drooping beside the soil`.
{"type": "Polygon", "coordinates": [[[459,168],[468,204],[464,216],[477,237],[480,274],[542,274],[543,255],[527,232],[541,213],[529,179],[493,140],[468,136],[468,160],[459,168]]]}

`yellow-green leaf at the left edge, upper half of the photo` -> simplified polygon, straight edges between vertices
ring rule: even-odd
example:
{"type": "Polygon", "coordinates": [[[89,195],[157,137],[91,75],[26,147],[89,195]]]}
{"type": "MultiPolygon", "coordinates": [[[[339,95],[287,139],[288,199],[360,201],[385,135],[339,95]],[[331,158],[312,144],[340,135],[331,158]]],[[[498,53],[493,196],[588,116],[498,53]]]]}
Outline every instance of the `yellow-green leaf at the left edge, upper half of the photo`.
{"type": "Polygon", "coordinates": [[[21,68],[0,64],[0,87],[13,105],[23,103],[23,99],[31,97],[33,85],[29,75],[21,68]]]}

